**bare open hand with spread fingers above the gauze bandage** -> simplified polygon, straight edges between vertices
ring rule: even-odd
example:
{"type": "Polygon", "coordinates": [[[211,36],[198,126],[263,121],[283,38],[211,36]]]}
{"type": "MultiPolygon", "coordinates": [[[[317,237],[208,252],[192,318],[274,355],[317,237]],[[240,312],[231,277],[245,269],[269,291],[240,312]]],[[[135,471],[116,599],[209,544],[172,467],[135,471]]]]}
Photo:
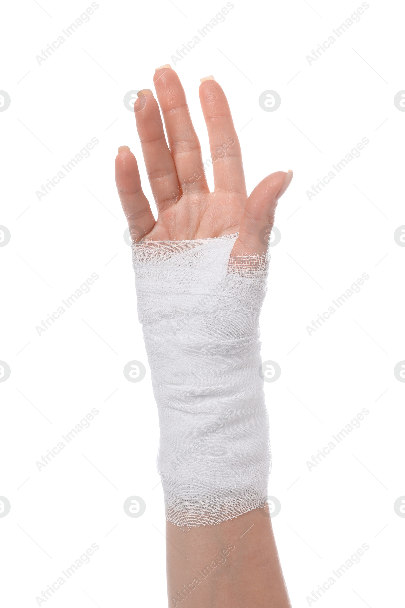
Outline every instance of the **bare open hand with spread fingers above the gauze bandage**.
{"type": "Polygon", "coordinates": [[[115,181],[135,240],[192,240],[239,232],[232,255],[262,254],[260,229],[273,226],[278,199],[293,178],[276,171],[247,195],[239,140],[220,85],[209,77],[200,85],[200,103],[213,158],[214,192],[209,192],[201,148],[192,126],[185,92],[170,66],[156,70],[152,91],[143,89],[134,105],[146,171],[158,210],[155,221],[142,192],[137,161],[127,146],[118,148],[115,181]],[[169,143],[169,145],[168,145],[169,143]]]}

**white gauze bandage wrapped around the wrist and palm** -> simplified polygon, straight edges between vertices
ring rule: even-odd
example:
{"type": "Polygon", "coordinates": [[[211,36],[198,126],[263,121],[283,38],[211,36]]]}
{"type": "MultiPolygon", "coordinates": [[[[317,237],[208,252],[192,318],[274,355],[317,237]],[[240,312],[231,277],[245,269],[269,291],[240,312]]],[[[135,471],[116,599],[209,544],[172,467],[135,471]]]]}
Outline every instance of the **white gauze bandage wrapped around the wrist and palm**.
{"type": "Polygon", "coordinates": [[[268,255],[231,258],[236,238],[132,244],[166,519],[181,527],[223,522],[267,498],[259,315],[268,255]]]}

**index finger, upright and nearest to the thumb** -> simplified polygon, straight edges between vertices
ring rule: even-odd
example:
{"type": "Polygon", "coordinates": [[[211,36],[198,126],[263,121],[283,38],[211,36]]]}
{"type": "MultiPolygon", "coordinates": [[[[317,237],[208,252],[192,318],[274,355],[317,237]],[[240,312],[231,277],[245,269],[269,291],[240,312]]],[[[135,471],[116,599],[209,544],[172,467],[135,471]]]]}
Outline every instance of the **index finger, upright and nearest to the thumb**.
{"type": "Polygon", "coordinates": [[[202,78],[199,94],[213,159],[215,187],[246,195],[242,153],[225,93],[213,76],[209,76],[207,80],[202,78]]]}

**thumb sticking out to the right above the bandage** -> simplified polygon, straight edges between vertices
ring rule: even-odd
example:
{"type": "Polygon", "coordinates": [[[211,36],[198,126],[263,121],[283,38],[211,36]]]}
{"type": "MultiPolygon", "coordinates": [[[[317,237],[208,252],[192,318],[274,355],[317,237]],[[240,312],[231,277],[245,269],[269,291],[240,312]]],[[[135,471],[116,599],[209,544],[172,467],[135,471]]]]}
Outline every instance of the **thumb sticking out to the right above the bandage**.
{"type": "Polygon", "coordinates": [[[264,254],[274,224],[277,201],[287,190],[293,172],[276,171],[257,184],[249,196],[232,255],[264,254]]]}

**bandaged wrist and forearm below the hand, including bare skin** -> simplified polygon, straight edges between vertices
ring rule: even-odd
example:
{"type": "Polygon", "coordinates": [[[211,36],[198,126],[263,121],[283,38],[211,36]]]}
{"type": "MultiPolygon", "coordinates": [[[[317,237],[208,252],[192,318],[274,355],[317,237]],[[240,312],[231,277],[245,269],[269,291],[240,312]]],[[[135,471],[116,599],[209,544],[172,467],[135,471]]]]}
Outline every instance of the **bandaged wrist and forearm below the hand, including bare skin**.
{"type": "Polygon", "coordinates": [[[134,245],[174,608],[290,606],[260,508],[271,464],[259,374],[268,258],[230,260],[235,238],[134,245]]]}

